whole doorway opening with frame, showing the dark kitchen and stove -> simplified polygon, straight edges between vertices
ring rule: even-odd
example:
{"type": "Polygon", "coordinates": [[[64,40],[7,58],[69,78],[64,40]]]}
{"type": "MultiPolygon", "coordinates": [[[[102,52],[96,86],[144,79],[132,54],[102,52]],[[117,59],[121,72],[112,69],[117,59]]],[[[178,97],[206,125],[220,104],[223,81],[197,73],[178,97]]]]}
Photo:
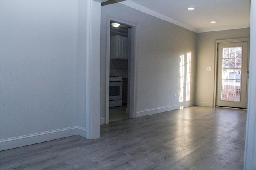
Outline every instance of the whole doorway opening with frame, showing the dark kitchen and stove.
{"type": "Polygon", "coordinates": [[[136,24],[108,18],[106,124],[134,118],[136,24]]]}

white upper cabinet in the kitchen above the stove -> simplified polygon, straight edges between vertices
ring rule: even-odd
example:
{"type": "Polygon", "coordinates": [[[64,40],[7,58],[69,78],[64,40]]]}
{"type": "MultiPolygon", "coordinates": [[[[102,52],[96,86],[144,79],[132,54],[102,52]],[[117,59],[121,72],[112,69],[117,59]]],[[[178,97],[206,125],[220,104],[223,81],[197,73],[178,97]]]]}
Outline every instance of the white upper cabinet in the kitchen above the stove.
{"type": "Polygon", "coordinates": [[[128,38],[120,35],[110,37],[110,58],[128,59],[128,38]]]}

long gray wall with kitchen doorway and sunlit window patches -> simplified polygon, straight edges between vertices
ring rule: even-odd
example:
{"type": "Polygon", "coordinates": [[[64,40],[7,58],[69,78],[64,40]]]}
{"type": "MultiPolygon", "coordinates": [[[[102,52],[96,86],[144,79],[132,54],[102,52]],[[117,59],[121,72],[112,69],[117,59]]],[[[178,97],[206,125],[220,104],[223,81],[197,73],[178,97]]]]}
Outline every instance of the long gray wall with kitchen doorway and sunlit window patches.
{"type": "MultiPolygon", "coordinates": [[[[107,16],[138,24],[136,117],[194,105],[196,33],[123,4],[102,6],[101,118],[105,117],[107,16]],[[180,103],[180,55],[192,53],[190,101],[180,103]],[[174,94],[177,99],[174,100],[174,94]]],[[[186,78],[185,78],[186,81],[186,78]]],[[[186,88],[184,89],[186,90],[186,88]]]]}

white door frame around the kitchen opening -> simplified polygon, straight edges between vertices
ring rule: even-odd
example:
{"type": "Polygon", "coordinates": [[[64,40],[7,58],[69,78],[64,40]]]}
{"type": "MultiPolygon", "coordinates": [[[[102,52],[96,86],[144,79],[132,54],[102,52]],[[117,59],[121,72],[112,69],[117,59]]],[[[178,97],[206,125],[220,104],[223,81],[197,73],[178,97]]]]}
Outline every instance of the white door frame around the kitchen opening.
{"type": "MultiPolygon", "coordinates": [[[[130,98],[128,99],[128,111],[129,111],[129,117],[135,118],[136,117],[136,75],[137,75],[137,59],[136,59],[136,45],[138,37],[138,31],[137,31],[137,24],[132,23],[129,21],[124,21],[118,18],[114,18],[111,16],[108,16],[107,18],[107,25],[110,25],[111,21],[115,21],[117,23],[121,23],[124,25],[128,25],[129,27],[132,27],[131,29],[131,55],[130,55],[130,72],[128,72],[128,76],[130,74],[130,98]]],[[[106,50],[106,124],[109,123],[109,64],[110,64],[110,26],[107,26],[107,50],[106,50]]],[[[128,68],[129,69],[129,68],[128,68]]],[[[129,92],[129,91],[128,91],[129,92]]]]}

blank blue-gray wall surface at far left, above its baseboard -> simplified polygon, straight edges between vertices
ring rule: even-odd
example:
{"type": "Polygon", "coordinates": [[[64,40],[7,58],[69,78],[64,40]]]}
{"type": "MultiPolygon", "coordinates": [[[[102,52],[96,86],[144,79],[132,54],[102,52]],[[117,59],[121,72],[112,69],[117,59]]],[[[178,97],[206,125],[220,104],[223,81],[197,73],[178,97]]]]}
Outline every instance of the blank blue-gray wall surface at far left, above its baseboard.
{"type": "Polygon", "coordinates": [[[1,139],[76,125],[77,9],[1,2],[1,139]]]}

